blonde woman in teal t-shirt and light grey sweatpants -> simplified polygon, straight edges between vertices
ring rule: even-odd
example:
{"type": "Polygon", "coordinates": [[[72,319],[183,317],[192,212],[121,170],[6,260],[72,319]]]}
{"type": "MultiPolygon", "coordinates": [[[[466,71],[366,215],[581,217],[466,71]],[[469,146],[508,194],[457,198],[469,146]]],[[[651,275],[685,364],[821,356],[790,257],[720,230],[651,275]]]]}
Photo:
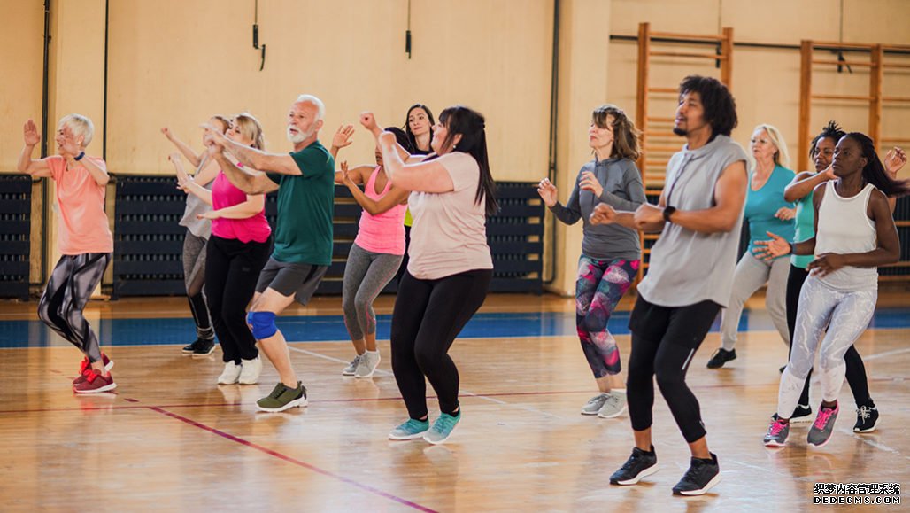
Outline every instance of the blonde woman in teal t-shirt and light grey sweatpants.
{"type": "Polygon", "coordinates": [[[723,310],[721,319],[722,346],[708,361],[709,369],[723,367],[723,364],[736,358],[733,346],[736,344],[736,330],[743,314],[743,304],[764,283],[768,284],[764,300],[768,313],[784,344],[790,344],[786,311],[789,259],[784,257],[764,262],[753,254],[755,241],[766,240],[768,231],[786,233],[781,235],[784,238],[794,236],[794,204],[784,200],[784,188],[794,178],[794,172],[786,168],[790,161],[786,148],[784,138],[777,128],[771,125],[755,127],[749,145],[755,166],[749,175],[749,190],[743,214],[749,223],[749,250],[736,265],[730,303],[723,310]]]}

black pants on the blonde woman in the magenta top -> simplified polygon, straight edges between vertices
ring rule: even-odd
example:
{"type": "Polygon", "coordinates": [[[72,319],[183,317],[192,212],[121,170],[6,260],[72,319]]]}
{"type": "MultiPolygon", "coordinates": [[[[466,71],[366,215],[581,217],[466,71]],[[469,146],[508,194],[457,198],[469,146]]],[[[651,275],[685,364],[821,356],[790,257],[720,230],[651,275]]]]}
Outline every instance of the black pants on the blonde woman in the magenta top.
{"type": "Polygon", "coordinates": [[[259,354],[247,325],[247,304],[271,249],[271,238],[241,242],[212,235],[208,239],[206,299],[226,364],[240,364],[241,359],[253,360],[259,354]]]}

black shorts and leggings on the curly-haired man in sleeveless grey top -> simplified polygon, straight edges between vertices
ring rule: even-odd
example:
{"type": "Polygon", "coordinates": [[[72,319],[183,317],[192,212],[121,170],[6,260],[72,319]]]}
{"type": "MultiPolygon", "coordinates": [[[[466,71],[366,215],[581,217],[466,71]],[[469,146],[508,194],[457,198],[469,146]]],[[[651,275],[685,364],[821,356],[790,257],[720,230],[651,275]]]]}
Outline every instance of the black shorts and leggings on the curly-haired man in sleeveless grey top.
{"type": "Polygon", "coordinates": [[[652,425],[656,376],[686,442],[705,435],[698,399],[686,385],[685,374],[720,310],[719,304],[710,301],[671,308],[639,296],[629,319],[632,353],[626,395],[632,429],[643,431],[652,425]]]}

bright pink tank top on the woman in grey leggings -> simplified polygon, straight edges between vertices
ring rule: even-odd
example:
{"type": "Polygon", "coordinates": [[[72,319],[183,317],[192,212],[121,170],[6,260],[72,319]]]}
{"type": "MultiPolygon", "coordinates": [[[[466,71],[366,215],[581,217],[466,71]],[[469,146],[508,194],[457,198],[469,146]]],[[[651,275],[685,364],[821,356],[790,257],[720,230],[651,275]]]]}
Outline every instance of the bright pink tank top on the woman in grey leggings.
{"type": "MultiPolygon", "coordinates": [[[[385,189],[379,194],[376,192],[376,177],[382,168],[373,169],[369,175],[364,194],[371,200],[379,200],[389,193],[392,186],[391,180],[386,182],[385,189]]],[[[354,243],[364,250],[374,253],[387,253],[392,255],[404,254],[404,212],[408,205],[395,205],[379,215],[372,215],[363,210],[360,215],[359,230],[354,243]]]]}

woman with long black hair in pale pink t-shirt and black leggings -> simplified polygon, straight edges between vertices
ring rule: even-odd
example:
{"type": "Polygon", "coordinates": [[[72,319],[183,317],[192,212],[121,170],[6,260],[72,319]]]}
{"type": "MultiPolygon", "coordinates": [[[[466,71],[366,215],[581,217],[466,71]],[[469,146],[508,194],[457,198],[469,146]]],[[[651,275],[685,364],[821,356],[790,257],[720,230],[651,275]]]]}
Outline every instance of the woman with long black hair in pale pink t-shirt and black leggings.
{"type": "Polygon", "coordinates": [[[411,191],[414,215],[391,329],[392,370],[409,418],[389,433],[392,440],[422,436],[441,444],[461,420],[459,374],[449,348],[486,298],[493,274],[485,222],[498,205],[484,126],[470,108],[447,108],[433,132],[433,153],[406,160],[392,133],[379,136],[389,180],[411,191]],[[440,402],[432,427],[426,380],[440,402]]]}

